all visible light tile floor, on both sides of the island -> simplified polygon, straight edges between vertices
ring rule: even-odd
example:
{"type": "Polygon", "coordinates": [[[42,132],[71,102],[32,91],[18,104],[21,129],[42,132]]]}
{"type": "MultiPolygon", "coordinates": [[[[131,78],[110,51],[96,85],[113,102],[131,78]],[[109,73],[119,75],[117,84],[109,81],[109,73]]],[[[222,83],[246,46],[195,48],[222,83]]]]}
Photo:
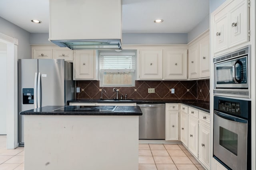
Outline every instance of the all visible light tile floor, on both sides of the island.
{"type": "MultiPolygon", "coordinates": [[[[0,170],[24,170],[24,147],[6,149],[0,135],[0,170]]],[[[139,170],[204,170],[182,144],[139,144],[139,170]]]]}

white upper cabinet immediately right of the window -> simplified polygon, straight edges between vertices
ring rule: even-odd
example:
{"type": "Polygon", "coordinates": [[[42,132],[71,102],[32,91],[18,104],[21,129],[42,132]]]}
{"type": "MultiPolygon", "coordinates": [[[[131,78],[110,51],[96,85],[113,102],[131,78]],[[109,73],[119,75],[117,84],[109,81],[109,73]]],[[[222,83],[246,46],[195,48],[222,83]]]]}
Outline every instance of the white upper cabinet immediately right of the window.
{"type": "Polygon", "coordinates": [[[162,49],[140,49],[139,79],[162,79],[162,49]]]}

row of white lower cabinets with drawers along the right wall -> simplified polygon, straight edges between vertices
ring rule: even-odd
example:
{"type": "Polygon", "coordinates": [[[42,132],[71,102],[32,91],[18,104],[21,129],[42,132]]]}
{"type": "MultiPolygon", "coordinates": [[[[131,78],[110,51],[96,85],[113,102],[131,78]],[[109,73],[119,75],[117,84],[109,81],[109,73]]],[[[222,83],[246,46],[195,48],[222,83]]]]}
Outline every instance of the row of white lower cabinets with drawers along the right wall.
{"type": "Polygon", "coordinates": [[[209,170],[210,115],[183,104],[180,111],[180,141],[209,170]]]}

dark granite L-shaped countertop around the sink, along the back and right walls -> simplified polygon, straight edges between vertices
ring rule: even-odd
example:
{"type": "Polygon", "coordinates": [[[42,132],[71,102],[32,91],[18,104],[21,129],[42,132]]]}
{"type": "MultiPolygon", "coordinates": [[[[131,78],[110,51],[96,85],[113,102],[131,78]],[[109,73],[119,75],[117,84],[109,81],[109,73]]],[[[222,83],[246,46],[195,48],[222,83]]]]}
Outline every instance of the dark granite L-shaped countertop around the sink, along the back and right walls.
{"type": "Polygon", "coordinates": [[[69,100],[69,103],[137,103],[137,104],[161,104],[161,103],[181,103],[187,106],[194,107],[196,109],[210,113],[210,103],[203,100],[146,100],[146,99],[132,99],[132,100],[100,100],[100,99],[73,99],[69,100]]]}

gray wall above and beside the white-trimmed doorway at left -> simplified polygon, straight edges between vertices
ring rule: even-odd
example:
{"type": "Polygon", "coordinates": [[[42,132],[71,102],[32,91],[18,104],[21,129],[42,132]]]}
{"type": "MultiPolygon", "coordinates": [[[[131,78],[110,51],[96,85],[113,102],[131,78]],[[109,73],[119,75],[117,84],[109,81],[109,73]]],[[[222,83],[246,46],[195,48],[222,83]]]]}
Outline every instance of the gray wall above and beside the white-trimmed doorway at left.
{"type": "Polygon", "coordinates": [[[0,17],[0,33],[18,39],[18,59],[30,59],[30,33],[0,17]]]}

